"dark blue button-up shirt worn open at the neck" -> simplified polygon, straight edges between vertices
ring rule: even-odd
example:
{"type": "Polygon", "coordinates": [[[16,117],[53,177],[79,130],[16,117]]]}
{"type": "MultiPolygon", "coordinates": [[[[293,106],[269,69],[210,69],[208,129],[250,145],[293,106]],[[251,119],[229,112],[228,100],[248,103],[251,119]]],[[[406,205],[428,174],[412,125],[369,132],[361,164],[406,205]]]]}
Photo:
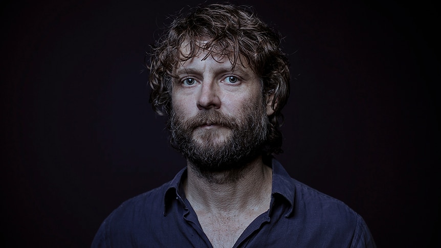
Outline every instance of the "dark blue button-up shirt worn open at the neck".
{"type": "MultiPolygon", "coordinates": [[[[342,201],[291,178],[273,159],[270,209],[234,247],[376,247],[363,218],[342,201]]],[[[182,182],[171,182],[125,201],[101,224],[92,247],[212,247],[182,182]]]]}

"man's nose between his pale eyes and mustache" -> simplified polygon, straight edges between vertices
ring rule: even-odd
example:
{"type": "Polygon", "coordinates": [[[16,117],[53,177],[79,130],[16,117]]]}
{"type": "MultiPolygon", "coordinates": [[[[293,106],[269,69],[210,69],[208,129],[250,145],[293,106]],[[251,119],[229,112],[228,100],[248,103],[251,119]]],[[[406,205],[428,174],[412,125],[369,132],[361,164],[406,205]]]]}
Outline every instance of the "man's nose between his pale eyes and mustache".
{"type": "Polygon", "coordinates": [[[199,97],[197,98],[197,108],[218,109],[220,107],[220,99],[218,95],[218,87],[214,81],[204,81],[201,85],[199,97]]]}

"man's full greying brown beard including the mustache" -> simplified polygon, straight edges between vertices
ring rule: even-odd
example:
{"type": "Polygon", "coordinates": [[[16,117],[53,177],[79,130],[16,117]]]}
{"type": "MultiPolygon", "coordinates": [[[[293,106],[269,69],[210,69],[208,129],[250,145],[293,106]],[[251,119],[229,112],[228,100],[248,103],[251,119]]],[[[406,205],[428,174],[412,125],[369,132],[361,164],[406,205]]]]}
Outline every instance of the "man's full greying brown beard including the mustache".
{"type": "Polygon", "coordinates": [[[247,105],[239,118],[210,109],[184,120],[173,108],[171,144],[203,174],[240,170],[260,155],[266,141],[269,120],[263,109],[262,104],[247,105]],[[206,124],[217,127],[196,130],[206,124]]]}

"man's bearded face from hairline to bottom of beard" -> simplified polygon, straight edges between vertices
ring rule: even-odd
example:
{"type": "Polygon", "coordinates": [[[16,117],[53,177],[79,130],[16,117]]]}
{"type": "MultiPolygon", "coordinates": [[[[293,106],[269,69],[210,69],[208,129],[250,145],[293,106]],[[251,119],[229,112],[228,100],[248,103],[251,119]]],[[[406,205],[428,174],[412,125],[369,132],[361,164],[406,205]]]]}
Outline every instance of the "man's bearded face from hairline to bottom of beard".
{"type": "Polygon", "coordinates": [[[172,139],[201,171],[241,166],[258,155],[273,110],[261,82],[239,62],[206,53],[181,62],[172,86],[172,139]]]}

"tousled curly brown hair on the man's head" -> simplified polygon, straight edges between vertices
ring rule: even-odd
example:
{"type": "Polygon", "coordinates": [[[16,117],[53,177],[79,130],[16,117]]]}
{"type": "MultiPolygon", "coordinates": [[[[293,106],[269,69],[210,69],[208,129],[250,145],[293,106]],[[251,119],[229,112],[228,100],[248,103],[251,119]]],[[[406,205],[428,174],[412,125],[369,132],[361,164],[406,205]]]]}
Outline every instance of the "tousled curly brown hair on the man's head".
{"type": "Polygon", "coordinates": [[[250,7],[219,4],[197,6],[190,13],[174,18],[155,45],[151,46],[150,54],[146,55],[153,110],[159,115],[170,114],[173,69],[179,62],[196,56],[201,49],[207,51],[205,58],[213,53],[227,56],[233,70],[237,59],[245,59],[263,82],[264,99],[274,95],[271,103],[274,114],[268,117],[267,142],[263,152],[267,155],[281,153],[282,134],[279,127],[283,122],[281,109],[290,94],[289,61],[280,49],[280,35],[264,24],[250,7]],[[189,45],[188,54],[180,50],[184,42],[189,45]]]}

